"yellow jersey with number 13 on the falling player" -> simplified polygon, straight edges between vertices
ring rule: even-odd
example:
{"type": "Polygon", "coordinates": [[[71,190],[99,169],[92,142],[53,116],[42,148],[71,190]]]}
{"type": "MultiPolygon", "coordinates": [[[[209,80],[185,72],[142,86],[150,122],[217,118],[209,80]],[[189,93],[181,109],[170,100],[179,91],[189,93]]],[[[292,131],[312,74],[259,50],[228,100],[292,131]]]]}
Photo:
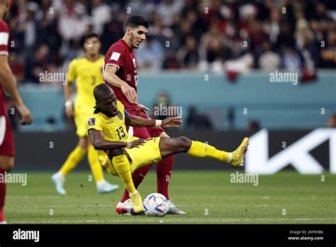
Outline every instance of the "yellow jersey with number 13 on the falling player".
{"type": "MultiPolygon", "coordinates": [[[[103,131],[103,139],[106,141],[133,141],[136,138],[128,136],[125,126],[125,108],[120,101],[117,100],[118,114],[116,116],[106,116],[101,112],[89,114],[87,121],[87,130],[93,128],[97,131],[103,131]]],[[[99,160],[102,165],[106,165],[107,153],[99,150],[99,160]]]]}

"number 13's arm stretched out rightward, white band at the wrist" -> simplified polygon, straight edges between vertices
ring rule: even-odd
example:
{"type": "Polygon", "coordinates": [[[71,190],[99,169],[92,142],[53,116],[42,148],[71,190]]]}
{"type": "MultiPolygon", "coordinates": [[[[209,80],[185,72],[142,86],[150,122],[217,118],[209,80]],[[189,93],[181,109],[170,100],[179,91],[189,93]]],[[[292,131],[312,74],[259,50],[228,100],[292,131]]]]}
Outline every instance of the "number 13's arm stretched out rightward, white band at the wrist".
{"type": "MultiPolygon", "coordinates": [[[[179,125],[182,124],[180,120],[181,116],[172,116],[167,119],[162,120],[161,127],[162,128],[177,128],[179,125]]],[[[130,114],[125,114],[125,124],[127,126],[133,127],[152,127],[155,126],[156,120],[155,119],[143,119],[139,116],[131,116],[130,114]]]]}

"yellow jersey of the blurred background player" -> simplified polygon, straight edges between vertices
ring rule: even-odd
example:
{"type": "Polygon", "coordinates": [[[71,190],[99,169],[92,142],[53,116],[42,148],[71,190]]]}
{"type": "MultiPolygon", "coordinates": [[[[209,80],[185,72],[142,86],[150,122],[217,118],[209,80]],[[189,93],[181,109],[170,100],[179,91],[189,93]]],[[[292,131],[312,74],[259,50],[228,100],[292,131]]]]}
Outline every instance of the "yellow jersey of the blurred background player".
{"type": "Polygon", "coordinates": [[[103,60],[103,55],[96,61],[90,61],[83,56],[77,57],[70,62],[67,81],[74,82],[76,79],[75,114],[88,114],[92,110],[95,104],[94,87],[103,83],[103,60]]]}

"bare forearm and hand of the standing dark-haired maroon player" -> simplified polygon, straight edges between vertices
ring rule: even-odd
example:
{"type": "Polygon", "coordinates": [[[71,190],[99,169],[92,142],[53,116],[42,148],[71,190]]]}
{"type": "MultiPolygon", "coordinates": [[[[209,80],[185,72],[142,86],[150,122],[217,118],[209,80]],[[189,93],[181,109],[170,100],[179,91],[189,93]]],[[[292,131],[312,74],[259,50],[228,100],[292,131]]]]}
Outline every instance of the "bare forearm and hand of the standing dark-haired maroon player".
{"type": "Polygon", "coordinates": [[[120,79],[116,72],[118,68],[114,65],[106,65],[105,70],[103,72],[103,79],[106,83],[121,88],[121,92],[125,95],[130,103],[135,103],[138,101],[137,92],[133,87],[130,87],[126,82],[120,79]]]}

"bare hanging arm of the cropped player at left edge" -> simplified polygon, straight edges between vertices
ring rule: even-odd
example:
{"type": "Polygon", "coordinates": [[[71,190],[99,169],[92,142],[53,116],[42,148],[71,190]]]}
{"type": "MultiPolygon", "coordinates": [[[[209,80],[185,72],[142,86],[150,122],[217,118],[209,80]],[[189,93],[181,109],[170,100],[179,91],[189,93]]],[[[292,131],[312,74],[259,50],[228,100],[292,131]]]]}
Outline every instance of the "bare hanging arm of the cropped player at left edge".
{"type": "Polygon", "coordinates": [[[31,124],[33,118],[30,114],[30,111],[23,103],[23,100],[18,93],[18,89],[16,89],[13,73],[9,67],[8,57],[6,55],[0,55],[0,82],[2,82],[4,89],[6,89],[6,91],[16,102],[16,107],[18,108],[18,111],[22,117],[20,124],[31,124]]]}

